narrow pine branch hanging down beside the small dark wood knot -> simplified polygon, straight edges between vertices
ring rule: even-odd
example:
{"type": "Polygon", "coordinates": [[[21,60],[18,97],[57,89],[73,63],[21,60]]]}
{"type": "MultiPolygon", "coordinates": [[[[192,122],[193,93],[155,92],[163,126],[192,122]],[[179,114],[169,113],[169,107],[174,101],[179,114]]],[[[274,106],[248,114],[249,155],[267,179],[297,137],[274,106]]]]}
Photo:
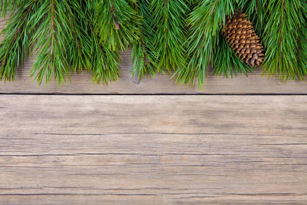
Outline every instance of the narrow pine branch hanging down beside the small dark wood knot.
{"type": "MultiPolygon", "coordinates": [[[[131,68],[131,75],[143,79],[144,76],[156,77],[158,65],[155,63],[156,54],[153,48],[153,40],[155,37],[155,28],[152,28],[152,17],[148,8],[149,3],[147,0],[140,0],[135,4],[135,10],[143,16],[139,27],[139,39],[134,42],[131,50],[131,61],[133,66],[131,68]]],[[[138,26],[138,25],[137,25],[138,26]]]]}

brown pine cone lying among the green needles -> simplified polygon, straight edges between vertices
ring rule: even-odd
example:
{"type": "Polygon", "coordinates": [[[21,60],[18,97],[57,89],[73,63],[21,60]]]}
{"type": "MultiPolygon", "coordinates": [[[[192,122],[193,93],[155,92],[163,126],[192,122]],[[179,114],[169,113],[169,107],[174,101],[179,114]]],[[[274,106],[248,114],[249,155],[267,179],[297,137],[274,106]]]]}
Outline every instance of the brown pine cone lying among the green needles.
{"type": "Polygon", "coordinates": [[[237,11],[232,17],[226,18],[223,35],[235,54],[247,65],[259,66],[263,61],[263,47],[246,14],[237,11]]]}

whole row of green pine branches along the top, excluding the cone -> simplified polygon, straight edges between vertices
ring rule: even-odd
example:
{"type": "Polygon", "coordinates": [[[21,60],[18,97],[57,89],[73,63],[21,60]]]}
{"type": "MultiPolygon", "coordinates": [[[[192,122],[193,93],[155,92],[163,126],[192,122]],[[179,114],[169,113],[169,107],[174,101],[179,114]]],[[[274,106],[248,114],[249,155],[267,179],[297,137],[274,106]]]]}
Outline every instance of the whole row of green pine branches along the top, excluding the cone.
{"type": "Polygon", "coordinates": [[[0,80],[35,57],[31,77],[61,86],[70,73],[92,73],[94,83],[120,77],[120,51],[131,49],[131,75],[172,73],[179,84],[198,79],[211,64],[217,76],[248,75],[254,68],[233,52],[222,34],[236,11],[248,15],[264,46],[262,75],[281,80],[307,75],[305,0],[2,0],[10,15],[0,43],[0,80]]]}

